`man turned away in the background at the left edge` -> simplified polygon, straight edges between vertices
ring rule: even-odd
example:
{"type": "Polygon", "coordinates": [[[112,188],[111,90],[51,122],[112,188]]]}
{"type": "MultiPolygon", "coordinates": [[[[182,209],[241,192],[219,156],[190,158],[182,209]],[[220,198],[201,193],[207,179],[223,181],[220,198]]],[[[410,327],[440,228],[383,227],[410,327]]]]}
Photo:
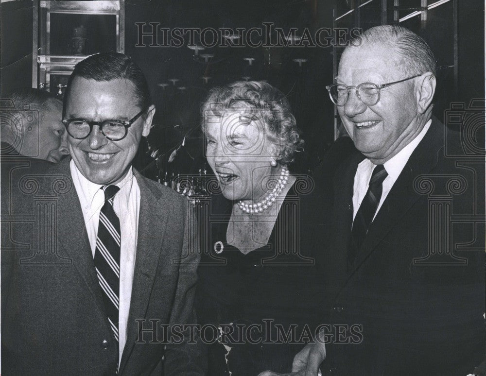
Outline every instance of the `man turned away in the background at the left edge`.
{"type": "Polygon", "coordinates": [[[69,154],[62,102],[24,88],[0,100],[1,212],[9,214],[12,191],[29,175],[42,174],[69,154]]]}

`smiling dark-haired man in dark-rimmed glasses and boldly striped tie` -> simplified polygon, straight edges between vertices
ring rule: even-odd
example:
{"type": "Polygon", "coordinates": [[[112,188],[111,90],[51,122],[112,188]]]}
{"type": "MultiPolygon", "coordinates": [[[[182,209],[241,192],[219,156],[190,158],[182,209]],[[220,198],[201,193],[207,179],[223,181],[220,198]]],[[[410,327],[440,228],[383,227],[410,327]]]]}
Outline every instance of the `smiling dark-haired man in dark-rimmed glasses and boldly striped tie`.
{"type": "Polygon", "coordinates": [[[199,256],[187,200],[132,167],[154,112],[130,57],[100,53],[74,68],[62,119],[70,158],[38,183],[55,205],[53,238],[40,216],[36,231],[12,225],[30,248],[2,252],[2,373],[204,374],[197,334],[188,343],[187,330],[175,341],[159,332],[195,324],[199,256]],[[58,258],[36,264],[29,249],[58,258]]]}

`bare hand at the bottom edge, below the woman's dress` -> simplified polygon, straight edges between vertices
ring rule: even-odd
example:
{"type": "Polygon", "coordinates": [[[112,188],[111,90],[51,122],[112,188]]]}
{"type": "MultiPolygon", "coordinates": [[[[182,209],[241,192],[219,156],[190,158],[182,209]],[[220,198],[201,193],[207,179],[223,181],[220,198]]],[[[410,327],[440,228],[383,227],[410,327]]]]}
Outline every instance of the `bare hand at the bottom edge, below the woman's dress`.
{"type": "Polygon", "coordinates": [[[290,374],[277,374],[272,371],[262,372],[258,376],[317,376],[319,366],[326,359],[326,345],[324,343],[309,343],[294,357],[290,374]]]}

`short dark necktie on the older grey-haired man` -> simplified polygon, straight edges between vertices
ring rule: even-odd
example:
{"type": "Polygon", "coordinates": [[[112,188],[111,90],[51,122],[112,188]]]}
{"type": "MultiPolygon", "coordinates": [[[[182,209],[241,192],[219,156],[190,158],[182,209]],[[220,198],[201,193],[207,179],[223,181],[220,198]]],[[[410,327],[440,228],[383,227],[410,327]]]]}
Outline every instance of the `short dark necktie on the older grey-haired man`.
{"type": "Polygon", "coordinates": [[[376,208],[382,197],[383,180],[385,180],[386,176],[388,176],[388,173],[383,165],[376,166],[371,173],[368,191],[366,192],[353,221],[351,246],[348,253],[348,264],[350,267],[354,265],[356,256],[358,256],[358,251],[361,244],[363,244],[364,237],[366,236],[368,228],[375,216],[376,208]]]}

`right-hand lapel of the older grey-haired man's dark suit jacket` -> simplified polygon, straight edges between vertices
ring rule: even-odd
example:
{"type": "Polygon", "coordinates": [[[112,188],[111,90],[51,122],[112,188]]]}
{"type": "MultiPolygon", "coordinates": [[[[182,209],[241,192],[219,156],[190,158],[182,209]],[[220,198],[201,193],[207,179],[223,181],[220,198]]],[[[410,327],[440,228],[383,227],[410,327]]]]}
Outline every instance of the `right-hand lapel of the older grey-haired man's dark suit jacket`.
{"type": "Polygon", "coordinates": [[[437,165],[437,154],[444,145],[444,125],[433,120],[425,137],[417,145],[397,181],[386,196],[380,211],[369,227],[355,267],[348,274],[350,278],[368,256],[375,250],[386,234],[399,222],[407,210],[414,205],[421,194],[414,189],[414,180],[430,172],[437,165]]]}

